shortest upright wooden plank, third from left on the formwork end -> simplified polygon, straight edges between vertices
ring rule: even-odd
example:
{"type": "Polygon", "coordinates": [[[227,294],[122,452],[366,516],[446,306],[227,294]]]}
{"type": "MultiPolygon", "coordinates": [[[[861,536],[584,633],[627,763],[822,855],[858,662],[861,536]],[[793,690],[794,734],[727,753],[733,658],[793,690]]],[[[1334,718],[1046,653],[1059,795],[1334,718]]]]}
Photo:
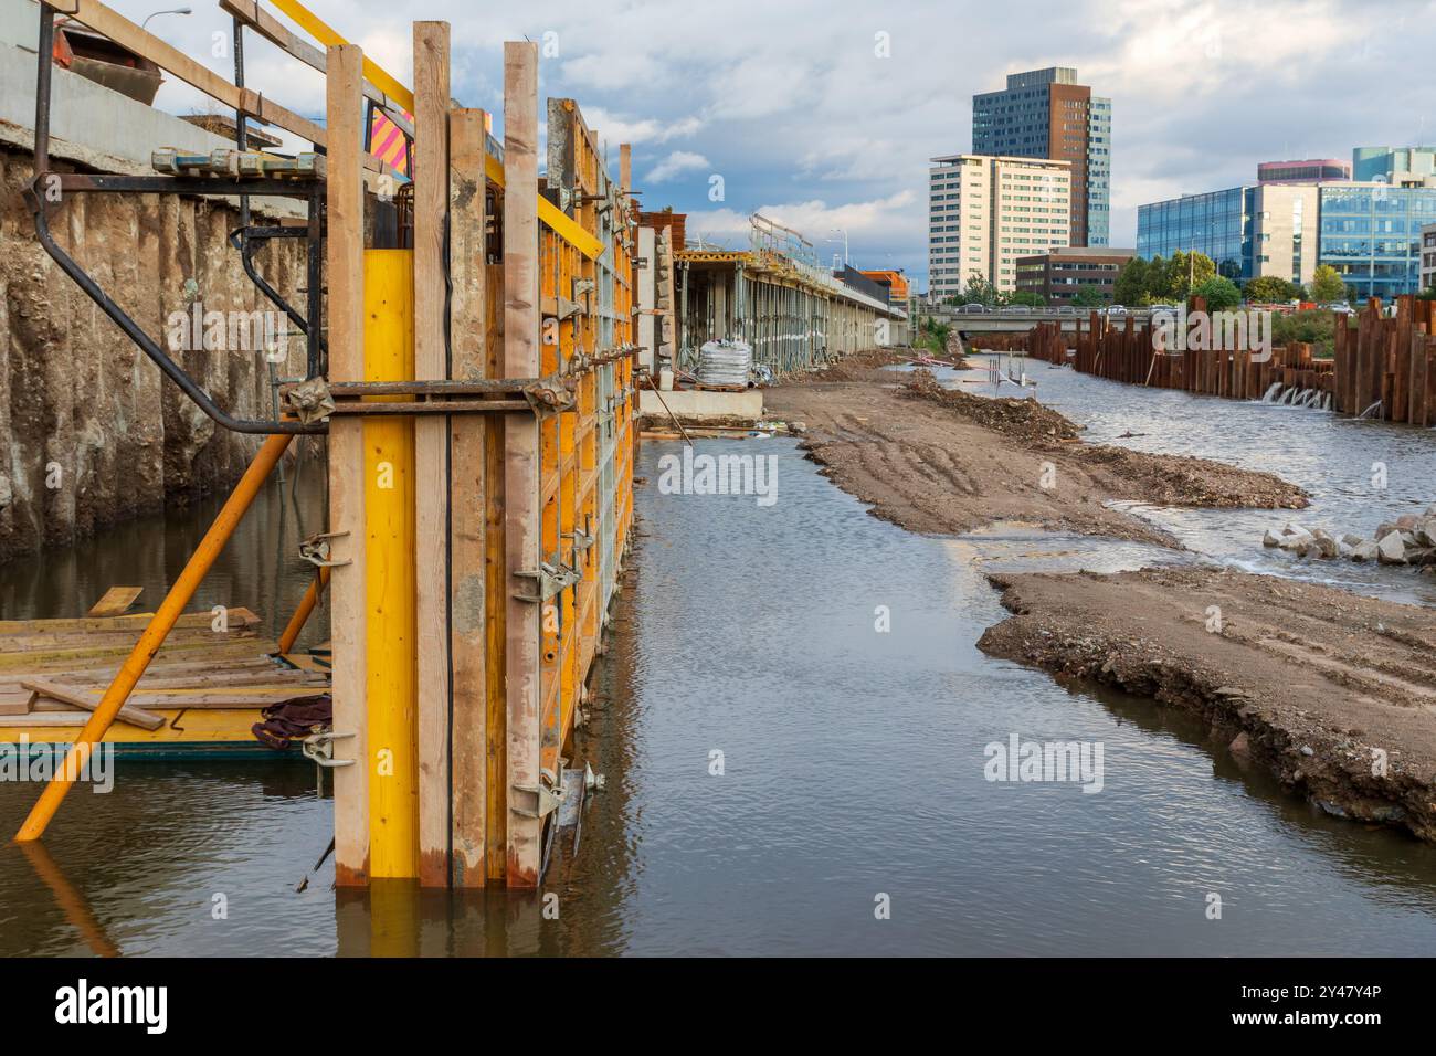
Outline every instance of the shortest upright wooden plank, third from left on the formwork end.
{"type": "MultiPolygon", "coordinates": [[[[452,109],[449,121],[449,335],[451,376],[490,376],[487,345],[487,178],[485,115],[452,109]]],[[[449,789],[452,797],[451,882],[487,882],[488,826],[488,421],[491,415],[449,420],[449,655],[452,711],[449,789]]]]}

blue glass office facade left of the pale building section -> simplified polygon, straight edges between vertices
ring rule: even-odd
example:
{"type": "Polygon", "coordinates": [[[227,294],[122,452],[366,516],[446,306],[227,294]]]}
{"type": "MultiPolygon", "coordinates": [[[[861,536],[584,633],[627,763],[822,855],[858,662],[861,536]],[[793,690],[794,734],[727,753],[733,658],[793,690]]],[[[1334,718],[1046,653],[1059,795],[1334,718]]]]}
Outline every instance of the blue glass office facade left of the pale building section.
{"type": "Polygon", "coordinates": [[[1137,256],[1205,253],[1228,279],[1252,277],[1252,187],[1183,194],[1137,207],[1137,256]]]}

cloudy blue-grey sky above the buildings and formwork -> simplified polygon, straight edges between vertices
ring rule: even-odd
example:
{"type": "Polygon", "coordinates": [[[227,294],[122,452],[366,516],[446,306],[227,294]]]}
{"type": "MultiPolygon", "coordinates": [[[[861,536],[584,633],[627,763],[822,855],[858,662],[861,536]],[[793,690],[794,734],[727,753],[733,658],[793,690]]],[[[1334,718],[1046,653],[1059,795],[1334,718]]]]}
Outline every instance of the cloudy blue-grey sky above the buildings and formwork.
{"type": "MultiPolygon", "coordinates": [[[[111,0],[139,20],[164,0],[111,0]]],[[[151,32],[230,75],[211,0],[151,32]]],[[[175,4],[178,6],[178,4],[175,4]]],[[[761,211],[829,256],[926,286],[926,165],[972,147],[972,93],[1011,72],[1076,66],[1113,99],[1111,241],[1136,207],[1251,181],[1258,161],[1350,158],[1356,145],[1436,139],[1429,65],[1436,0],[312,0],[405,83],[414,19],[454,27],[454,96],[500,115],[501,43],[547,52],[540,93],[576,98],[613,151],[633,144],[649,208],[745,244],[761,211]],[[722,200],[709,188],[721,177],[722,200]]],[[[323,119],[323,83],[247,37],[250,85],[323,119]]],[[[158,105],[205,106],[182,85],[158,105]]],[[[540,155],[541,157],[541,155],[540,155]]]]}

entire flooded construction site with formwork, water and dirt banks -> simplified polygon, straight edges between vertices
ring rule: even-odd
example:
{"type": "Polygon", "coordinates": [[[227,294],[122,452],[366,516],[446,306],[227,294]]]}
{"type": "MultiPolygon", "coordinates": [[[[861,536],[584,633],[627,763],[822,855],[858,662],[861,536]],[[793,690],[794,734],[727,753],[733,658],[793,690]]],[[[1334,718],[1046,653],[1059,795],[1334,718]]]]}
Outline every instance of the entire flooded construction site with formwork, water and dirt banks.
{"type": "Polygon", "coordinates": [[[546,36],[0,13],[0,957],[1436,948],[1436,300],[964,322],[546,36]]]}

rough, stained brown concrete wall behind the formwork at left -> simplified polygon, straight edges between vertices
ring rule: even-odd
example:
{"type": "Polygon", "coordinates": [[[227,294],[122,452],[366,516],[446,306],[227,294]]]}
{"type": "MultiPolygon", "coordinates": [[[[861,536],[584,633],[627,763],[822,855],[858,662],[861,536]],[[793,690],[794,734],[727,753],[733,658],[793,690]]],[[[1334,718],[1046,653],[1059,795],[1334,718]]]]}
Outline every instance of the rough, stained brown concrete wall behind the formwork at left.
{"type": "MultiPolygon", "coordinates": [[[[22,197],[27,151],[0,149],[0,560],[70,543],[165,500],[227,487],[260,437],[220,430],[70,282],[34,238],[22,197]]],[[[55,164],[56,171],[70,167],[55,164]]],[[[178,195],[78,194],[55,207],[56,238],[161,343],[175,312],[267,312],[227,243],[238,213],[178,195]]],[[[300,309],[297,240],[256,254],[260,273],[300,309]]],[[[227,318],[234,318],[228,316],[227,318]]],[[[277,326],[277,323],[276,323],[277,326]]],[[[221,405],[270,417],[263,348],[175,351],[221,405]]],[[[304,372],[286,338],[277,374],[304,372]]]]}

